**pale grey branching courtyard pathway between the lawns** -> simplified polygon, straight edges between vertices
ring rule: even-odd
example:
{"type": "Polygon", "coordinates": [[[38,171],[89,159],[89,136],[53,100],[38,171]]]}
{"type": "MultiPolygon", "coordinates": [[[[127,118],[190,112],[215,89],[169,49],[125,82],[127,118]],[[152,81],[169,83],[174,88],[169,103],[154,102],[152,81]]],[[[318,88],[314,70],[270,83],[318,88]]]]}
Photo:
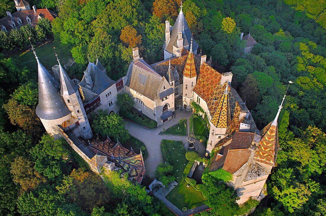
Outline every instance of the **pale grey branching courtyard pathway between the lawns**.
{"type": "Polygon", "coordinates": [[[155,171],[157,165],[163,162],[161,153],[161,141],[162,139],[182,141],[183,144],[187,142],[187,136],[176,136],[176,135],[161,135],[159,134],[163,131],[163,128],[169,128],[170,126],[179,123],[180,118],[187,119],[187,134],[189,134],[189,117],[192,116],[191,112],[183,113],[180,110],[175,110],[175,118],[170,121],[165,122],[163,125],[158,126],[154,129],[149,129],[148,127],[141,126],[140,124],[131,121],[129,119],[125,120],[125,127],[129,130],[129,133],[143,142],[146,146],[148,157],[145,160],[145,175],[154,180],[155,171]],[[174,138],[172,138],[174,137],[174,138]]]}

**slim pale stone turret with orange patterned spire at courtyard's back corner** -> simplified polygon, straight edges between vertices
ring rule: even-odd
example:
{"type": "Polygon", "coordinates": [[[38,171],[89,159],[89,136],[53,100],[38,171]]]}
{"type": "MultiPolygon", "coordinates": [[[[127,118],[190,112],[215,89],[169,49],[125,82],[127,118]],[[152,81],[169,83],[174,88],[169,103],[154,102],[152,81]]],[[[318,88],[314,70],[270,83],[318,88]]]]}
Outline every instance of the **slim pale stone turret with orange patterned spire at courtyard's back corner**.
{"type": "Polygon", "coordinates": [[[183,108],[190,109],[190,102],[193,97],[193,88],[196,85],[197,72],[195,67],[194,54],[192,52],[192,38],[190,44],[190,51],[185,63],[185,69],[183,71],[183,108]]]}

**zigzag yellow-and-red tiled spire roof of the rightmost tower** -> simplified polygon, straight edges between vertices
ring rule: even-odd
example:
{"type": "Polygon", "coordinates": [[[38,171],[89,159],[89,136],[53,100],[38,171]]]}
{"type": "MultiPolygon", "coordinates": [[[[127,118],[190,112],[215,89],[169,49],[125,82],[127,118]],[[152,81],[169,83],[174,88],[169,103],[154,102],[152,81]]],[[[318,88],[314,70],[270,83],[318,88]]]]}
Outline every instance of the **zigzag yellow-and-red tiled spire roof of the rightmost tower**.
{"type": "Polygon", "coordinates": [[[272,122],[261,131],[261,140],[256,151],[255,160],[267,165],[275,166],[276,154],[278,150],[277,126],[272,122]]]}

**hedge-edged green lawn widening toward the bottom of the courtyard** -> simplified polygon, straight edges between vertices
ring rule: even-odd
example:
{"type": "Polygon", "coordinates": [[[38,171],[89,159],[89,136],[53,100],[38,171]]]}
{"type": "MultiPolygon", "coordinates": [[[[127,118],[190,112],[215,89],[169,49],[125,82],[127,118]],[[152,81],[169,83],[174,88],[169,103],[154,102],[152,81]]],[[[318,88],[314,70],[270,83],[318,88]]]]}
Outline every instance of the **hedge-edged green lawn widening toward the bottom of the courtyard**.
{"type": "Polygon", "coordinates": [[[173,145],[172,143],[166,143],[166,146],[173,162],[172,174],[175,176],[175,181],[178,183],[178,185],[173,188],[166,198],[180,210],[183,207],[192,209],[203,205],[204,197],[202,196],[201,192],[197,191],[191,185],[187,187],[188,183],[182,178],[185,164],[188,163],[188,160],[185,158],[185,150],[180,149],[178,146],[173,145]]]}

